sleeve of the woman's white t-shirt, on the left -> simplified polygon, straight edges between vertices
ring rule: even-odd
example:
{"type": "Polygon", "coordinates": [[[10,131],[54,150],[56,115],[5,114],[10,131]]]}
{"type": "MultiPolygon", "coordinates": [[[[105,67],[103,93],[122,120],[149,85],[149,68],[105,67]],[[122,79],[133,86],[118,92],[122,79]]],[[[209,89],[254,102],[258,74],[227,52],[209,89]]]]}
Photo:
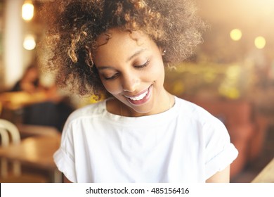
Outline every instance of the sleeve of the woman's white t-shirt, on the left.
{"type": "Polygon", "coordinates": [[[72,137],[72,127],[65,125],[63,129],[60,148],[53,155],[54,162],[60,172],[70,182],[77,182],[75,165],[74,165],[74,146],[72,137]]]}

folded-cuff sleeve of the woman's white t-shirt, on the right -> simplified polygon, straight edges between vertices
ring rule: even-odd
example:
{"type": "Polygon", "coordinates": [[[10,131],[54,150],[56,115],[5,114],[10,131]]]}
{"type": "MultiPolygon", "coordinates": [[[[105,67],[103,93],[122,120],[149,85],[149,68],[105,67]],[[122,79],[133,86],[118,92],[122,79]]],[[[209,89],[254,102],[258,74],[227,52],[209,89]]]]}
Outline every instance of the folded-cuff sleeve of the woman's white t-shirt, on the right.
{"type": "Polygon", "coordinates": [[[238,151],[230,142],[230,136],[223,122],[216,117],[207,122],[205,129],[205,178],[224,170],[237,158],[238,151]]]}

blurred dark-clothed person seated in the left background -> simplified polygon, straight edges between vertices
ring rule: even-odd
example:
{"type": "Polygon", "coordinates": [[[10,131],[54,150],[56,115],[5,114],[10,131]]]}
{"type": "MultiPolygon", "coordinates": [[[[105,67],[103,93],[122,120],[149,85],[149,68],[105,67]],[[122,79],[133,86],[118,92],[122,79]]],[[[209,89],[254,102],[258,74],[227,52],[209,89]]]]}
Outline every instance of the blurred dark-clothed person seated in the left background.
{"type": "Polygon", "coordinates": [[[35,63],[25,70],[11,91],[25,91],[37,98],[23,106],[22,124],[56,127],[61,132],[65,120],[74,110],[69,98],[60,94],[55,82],[47,86],[41,82],[41,73],[35,63]]]}

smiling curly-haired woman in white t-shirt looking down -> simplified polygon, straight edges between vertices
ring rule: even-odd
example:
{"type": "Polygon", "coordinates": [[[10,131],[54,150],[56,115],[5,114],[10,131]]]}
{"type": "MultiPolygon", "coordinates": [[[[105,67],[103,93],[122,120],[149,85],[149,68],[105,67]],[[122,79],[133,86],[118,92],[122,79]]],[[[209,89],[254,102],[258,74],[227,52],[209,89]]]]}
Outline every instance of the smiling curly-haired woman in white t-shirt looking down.
{"type": "Polygon", "coordinates": [[[67,119],[54,155],[66,182],[229,182],[226,127],[163,85],[164,66],[202,40],[193,1],[48,6],[48,68],[63,87],[105,98],[67,119]]]}

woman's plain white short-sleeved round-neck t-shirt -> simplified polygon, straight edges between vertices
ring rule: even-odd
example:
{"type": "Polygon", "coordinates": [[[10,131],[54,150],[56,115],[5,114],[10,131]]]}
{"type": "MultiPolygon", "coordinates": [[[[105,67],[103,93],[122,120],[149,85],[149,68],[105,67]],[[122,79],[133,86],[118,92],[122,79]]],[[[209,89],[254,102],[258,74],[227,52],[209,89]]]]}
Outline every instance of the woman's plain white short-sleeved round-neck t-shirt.
{"type": "Polygon", "coordinates": [[[237,158],[223,123],[194,103],[175,98],[156,115],[123,117],[106,101],[68,118],[58,169],[71,182],[205,182],[237,158]]]}

